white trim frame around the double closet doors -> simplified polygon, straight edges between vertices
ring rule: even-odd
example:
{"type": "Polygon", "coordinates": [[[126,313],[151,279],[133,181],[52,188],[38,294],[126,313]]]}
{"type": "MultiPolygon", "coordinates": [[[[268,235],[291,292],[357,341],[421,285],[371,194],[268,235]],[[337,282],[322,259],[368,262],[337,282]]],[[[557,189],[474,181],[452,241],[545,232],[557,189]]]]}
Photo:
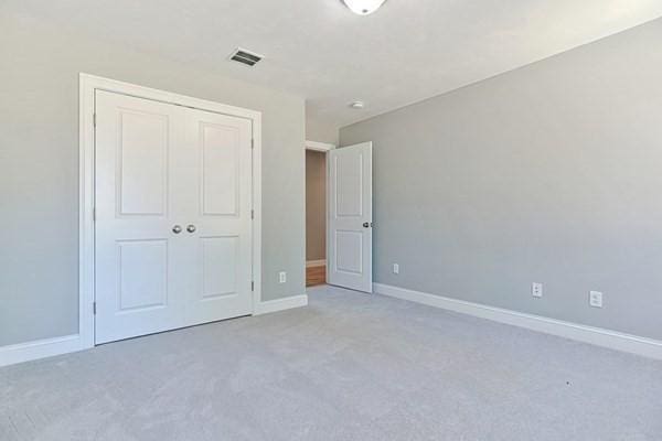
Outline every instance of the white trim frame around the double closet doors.
{"type": "Polygon", "coordinates": [[[95,346],[95,92],[106,90],[137,98],[192,107],[253,121],[252,272],[253,314],[261,301],[261,112],[215,101],[79,74],[79,207],[78,207],[78,335],[81,348],[95,346]]]}

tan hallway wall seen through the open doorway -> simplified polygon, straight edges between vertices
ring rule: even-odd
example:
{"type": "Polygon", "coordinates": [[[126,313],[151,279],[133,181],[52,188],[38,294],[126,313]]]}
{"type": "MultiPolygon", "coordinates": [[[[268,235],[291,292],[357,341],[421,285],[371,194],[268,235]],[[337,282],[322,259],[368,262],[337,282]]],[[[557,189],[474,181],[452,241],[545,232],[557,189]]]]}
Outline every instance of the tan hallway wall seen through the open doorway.
{"type": "Polygon", "coordinates": [[[327,258],[327,154],[306,150],[306,260],[327,258]]]}

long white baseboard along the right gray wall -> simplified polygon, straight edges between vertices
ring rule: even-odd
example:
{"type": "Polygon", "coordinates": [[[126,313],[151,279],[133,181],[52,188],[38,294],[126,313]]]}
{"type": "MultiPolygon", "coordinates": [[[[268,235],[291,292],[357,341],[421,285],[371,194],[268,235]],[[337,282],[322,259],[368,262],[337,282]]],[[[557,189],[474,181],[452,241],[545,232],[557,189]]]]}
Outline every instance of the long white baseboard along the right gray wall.
{"type": "Polygon", "coordinates": [[[488,306],[480,303],[434,295],[426,292],[413,291],[383,283],[374,283],[373,291],[377,294],[409,300],[429,306],[461,312],[482,319],[492,320],[514,326],[544,332],[578,342],[628,352],[655,359],[662,359],[662,342],[638,335],[624,334],[602,327],[565,322],[541,315],[526,314],[502,308],[488,306]]]}

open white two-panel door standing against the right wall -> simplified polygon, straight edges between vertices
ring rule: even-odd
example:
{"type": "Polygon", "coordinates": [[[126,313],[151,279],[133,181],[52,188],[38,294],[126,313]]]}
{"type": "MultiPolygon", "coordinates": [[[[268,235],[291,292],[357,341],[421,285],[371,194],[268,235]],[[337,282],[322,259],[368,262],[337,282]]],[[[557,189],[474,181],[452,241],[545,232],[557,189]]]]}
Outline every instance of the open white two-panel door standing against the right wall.
{"type": "Polygon", "coordinates": [[[328,282],[372,292],[372,142],[331,150],[328,282]]]}

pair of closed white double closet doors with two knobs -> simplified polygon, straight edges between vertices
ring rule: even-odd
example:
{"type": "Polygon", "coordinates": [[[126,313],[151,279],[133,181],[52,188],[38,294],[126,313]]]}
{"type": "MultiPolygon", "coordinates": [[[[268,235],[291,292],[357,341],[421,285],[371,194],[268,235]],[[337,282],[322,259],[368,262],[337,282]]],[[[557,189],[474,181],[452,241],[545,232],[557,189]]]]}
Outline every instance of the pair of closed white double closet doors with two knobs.
{"type": "Polygon", "coordinates": [[[95,103],[96,343],[250,314],[252,121],[95,103]]]}

